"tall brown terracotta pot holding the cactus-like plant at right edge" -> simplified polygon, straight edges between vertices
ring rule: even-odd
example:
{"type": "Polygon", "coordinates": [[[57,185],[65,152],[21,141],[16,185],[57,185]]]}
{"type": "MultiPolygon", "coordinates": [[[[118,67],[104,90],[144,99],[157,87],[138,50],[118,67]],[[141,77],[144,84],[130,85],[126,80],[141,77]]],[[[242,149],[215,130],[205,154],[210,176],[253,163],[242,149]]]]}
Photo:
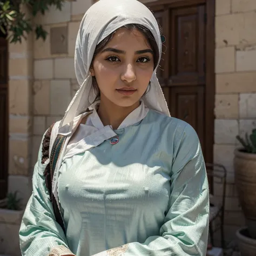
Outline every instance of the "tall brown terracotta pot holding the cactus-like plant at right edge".
{"type": "Polygon", "coordinates": [[[242,211],[247,219],[249,233],[256,238],[256,154],[234,152],[235,184],[242,211]]]}

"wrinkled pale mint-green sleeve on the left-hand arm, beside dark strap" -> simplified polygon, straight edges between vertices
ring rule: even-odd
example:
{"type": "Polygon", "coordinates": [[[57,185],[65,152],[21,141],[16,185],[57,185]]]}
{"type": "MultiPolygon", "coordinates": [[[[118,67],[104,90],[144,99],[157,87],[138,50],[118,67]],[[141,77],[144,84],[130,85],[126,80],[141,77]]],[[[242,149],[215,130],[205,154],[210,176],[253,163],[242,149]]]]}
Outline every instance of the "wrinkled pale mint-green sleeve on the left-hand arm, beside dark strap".
{"type": "Polygon", "coordinates": [[[43,174],[46,163],[42,164],[41,158],[42,143],[33,172],[32,196],[26,205],[19,230],[21,252],[23,256],[46,256],[55,248],[55,251],[62,251],[62,255],[73,255],[62,228],[55,220],[43,174]]]}

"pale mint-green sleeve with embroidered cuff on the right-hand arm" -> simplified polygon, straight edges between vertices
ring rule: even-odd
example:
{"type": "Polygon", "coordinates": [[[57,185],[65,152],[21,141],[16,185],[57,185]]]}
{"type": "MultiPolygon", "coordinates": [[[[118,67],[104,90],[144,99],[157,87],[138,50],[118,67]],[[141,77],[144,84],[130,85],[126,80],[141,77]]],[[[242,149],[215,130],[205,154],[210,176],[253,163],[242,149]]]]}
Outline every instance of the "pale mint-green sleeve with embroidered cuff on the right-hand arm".
{"type": "Polygon", "coordinates": [[[187,125],[174,147],[171,196],[159,236],[95,254],[205,256],[208,238],[208,181],[198,136],[187,125]]]}

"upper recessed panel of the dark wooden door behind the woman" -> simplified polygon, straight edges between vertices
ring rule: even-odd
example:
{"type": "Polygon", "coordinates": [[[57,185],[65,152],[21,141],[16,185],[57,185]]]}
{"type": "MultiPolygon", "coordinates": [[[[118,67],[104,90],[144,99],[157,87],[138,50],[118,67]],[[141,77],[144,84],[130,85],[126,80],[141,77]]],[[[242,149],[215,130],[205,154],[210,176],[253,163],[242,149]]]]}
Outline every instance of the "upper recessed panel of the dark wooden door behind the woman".
{"type": "Polygon", "coordinates": [[[169,85],[205,84],[205,6],[171,10],[169,85]]]}

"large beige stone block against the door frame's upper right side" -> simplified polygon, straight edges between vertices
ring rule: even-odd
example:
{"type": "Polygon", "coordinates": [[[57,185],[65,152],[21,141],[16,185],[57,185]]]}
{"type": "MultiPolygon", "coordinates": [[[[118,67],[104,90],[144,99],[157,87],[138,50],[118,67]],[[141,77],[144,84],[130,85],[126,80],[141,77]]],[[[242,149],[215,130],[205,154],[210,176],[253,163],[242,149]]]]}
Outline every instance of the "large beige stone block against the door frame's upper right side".
{"type": "MultiPolygon", "coordinates": [[[[227,2],[227,1],[221,1],[227,2]]],[[[237,45],[244,27],[243,14],[230,14],[215,17],[216,46],[237,45]]]]}

